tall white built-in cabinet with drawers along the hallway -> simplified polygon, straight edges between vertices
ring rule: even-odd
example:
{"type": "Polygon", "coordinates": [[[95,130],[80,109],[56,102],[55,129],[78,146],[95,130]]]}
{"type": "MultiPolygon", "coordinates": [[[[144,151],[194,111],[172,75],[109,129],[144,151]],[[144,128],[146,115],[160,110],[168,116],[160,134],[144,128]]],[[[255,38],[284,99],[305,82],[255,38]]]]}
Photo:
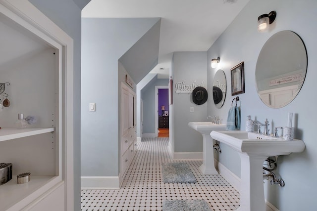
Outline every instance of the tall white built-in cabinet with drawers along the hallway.
{"type": "Polygon", "coordinates": [[[120,183],[136,151],[135,92],[121,84],[121,139],[120,139],[120,183]]]}

